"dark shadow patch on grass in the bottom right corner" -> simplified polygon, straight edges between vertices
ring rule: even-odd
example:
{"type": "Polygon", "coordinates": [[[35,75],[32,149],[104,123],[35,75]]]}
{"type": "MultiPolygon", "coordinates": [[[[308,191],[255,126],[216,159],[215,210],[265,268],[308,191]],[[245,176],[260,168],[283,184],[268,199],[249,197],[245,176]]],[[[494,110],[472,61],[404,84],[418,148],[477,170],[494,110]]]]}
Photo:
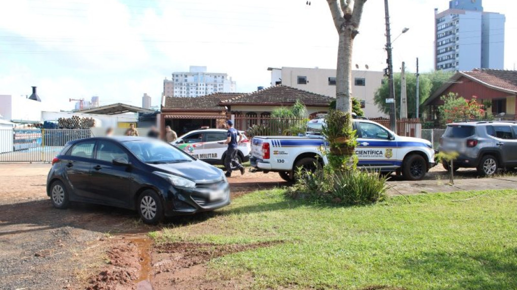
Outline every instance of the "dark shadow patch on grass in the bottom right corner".
{"type": "Polygon", "coordinates": [[[433,289],[517,289],[517,248],[500,252],[426,252],[405,261],[405,267],[415,277],[443,280],[443,285],[433,289]]]}

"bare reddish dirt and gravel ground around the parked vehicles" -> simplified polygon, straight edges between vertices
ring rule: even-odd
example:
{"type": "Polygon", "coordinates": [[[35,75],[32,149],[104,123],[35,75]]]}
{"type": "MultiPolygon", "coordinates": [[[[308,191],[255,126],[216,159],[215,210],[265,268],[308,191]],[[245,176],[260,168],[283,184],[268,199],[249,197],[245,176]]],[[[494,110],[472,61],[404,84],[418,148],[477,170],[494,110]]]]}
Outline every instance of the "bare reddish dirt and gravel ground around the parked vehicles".
{"type": "MultiPolygon", "coordinates": [[[[0,289],[200,289],[246,288],[245,281],[197,281],[212,257],[246,250],[233,246],[187,244],[159,248],[145,235],[163,225],[143,224],[133,211],[72,203],[56,210],[45,194],[50,165],[0,165],[0,289]],[[151,287],[151,284],[153,287],[151,287]],[[194,283],[194,281],[197,281],[194,283]],[[192,284],[194,283],[194,284],[192,284]]],[[[454,186],[437,166],[421,182],[393,176],[391,195],[470,189],[515,188],[516,176],[478,179],[461,169],[454,186]]],[[[247,192],[287,186],[277,173],[250,173],[229,179],[232,198],[247,192]]],[[[167,227],[203,222],[213,214],[169,219],[167,227]]],[[[250,245],[249,247],[267,247],[250,245]]]]}

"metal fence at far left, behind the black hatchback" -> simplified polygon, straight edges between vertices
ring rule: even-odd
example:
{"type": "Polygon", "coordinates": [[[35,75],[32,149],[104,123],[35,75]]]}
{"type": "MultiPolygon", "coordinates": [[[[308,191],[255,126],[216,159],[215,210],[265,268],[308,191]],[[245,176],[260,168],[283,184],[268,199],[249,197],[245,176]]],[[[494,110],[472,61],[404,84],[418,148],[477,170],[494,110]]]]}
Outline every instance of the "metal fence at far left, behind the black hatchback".
{"type": "Polygon", "coordinates": [[[52,162],[68,141],[92,137],[79,129],[0,129],[0,162],[52,162]]]}

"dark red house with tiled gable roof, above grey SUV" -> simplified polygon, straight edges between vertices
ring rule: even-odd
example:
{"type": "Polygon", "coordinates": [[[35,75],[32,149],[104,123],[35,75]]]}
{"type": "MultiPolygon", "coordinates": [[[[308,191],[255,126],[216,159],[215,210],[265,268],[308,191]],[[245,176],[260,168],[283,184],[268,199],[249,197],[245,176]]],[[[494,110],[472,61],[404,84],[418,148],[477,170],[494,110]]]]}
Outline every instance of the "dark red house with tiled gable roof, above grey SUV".
{"type": "Polygon", "coordinates": [[[422,104],[424,119],[439,120],[438,108],[443,105],[440,97],[449,93],[457,93],[466,100],[476,96],[478,102],[489,101],[496,118],[517,120],[517,71],[474,69],[455,73],[422,104]]]}

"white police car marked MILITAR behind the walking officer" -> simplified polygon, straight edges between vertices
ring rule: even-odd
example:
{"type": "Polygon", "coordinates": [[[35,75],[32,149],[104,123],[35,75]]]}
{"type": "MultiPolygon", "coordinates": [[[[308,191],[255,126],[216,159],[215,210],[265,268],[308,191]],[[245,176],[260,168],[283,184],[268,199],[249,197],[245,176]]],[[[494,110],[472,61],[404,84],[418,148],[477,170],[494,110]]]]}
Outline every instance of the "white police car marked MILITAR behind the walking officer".
{"type": "MultiPolygon", "coordinates": [[[[206,163],[223,165],[228,145],[221,144],[220,142],[226,140],[226,132],[227,130],[224,129],[195,130],[180,136],[171,144],[206,163]]],[[[237,158],[240,163],[248,162],[251,151],[250,141],[243,131],[239,132],[244,137],[237,147],[237,158]]]]}

